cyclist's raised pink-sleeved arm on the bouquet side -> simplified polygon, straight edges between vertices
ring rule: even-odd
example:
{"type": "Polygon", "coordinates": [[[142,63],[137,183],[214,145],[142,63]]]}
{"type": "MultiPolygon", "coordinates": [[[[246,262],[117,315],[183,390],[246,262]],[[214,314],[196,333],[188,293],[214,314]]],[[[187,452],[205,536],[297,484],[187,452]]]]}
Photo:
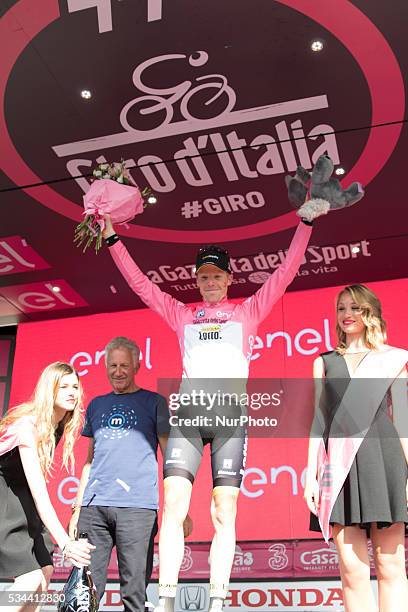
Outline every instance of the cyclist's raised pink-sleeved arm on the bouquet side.
{"type": "Polygon", "coordinates": [[[115,234],[109,215],[105,216],[105,223],[106,227],[103,231],[103,237],[107,241],[113,261],[129,287],[140,297],[146,306],[149,306],[149,308],[163,317],[172,329],[176,329],[184,304],[168,293],[161,291],[155,283],[152,283],[143,274],[119,239],[119,236],[115,234]]]}

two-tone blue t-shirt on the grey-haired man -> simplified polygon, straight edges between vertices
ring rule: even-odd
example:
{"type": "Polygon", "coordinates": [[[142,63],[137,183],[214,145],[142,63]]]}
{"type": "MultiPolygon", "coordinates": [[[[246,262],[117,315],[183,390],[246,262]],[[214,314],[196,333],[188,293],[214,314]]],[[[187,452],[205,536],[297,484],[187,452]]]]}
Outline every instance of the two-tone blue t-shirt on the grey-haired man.
{"type": "Polygon", "coordinates": [[[139,389],[93,399],[82,431],[94,438],[82,505],[156,510],[158,436],[168,432],[169,411],[158,393],[139,389]]]}

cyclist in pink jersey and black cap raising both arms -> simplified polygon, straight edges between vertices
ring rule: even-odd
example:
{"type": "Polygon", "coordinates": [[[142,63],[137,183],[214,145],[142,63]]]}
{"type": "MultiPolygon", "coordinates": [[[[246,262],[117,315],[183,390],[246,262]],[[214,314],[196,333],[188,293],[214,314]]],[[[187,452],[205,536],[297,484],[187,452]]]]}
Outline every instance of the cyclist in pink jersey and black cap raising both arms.
{"type": "MultiPolygon", "coordinates": [[[[223,249],[216,246],[200,249],[196,275],[203,301],[198,306],[189,306],[162,292],[143,274],[115,234],[109,217],[105,218],[105,242],[120,272],[131,289],[160,314],[178,336],[183,361],[183,389],[196,390],[197,380],[236,379],[235,388],[239,387],[239,381],[246,382],[258,325],[294,279],[310,239],[312,221],[325,214],[327,207],[321,210],[316,207],[308,220],[301,220],[284,262],[254,295],[240,304],[227,298],[232,274],[228,253],[223,249]]],[[[301,216],[301,209],[298,214],[301,216]]],[[[227,406],[226,409],[237,414],[240,407],[227,406]]],[[[214,525],[209,610],[214,612],[223,608],[235,554],[235,517],[245,466],[246,430],[238,425],[226,433],[211,427],[211,424],[204,424],[196,428],[175,426],[170,432],[164,461],[159,606],[156,612],[174,610],[184,554],[183,522],[206,443],[211,445],[211,517],[214,525]]]]}

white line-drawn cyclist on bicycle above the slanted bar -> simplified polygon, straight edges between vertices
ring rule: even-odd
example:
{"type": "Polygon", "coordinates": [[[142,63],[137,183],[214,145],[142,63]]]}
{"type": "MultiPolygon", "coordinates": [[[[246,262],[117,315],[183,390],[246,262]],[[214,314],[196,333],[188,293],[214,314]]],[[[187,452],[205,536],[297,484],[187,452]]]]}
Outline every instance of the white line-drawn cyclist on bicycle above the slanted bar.
{"type": "Polygon", "coordinates": [[[208,53],[205,51],[197,51],[191,55],[184,53],[171,53],[169,55],[159,55],[142,62],[133,72],[133,83],[135,87],[146,95],[139,96],[128,102],[120,113],[120,122],[124,129],[128,132],[143,131],[138,126],[132,125],[134,118],[139,116],[152,115],[159,122],[154,128],[151,126],[148,130],[157,129],[169,125],[174,117],[175,105],[179,103],[178,110],[183,118],[188,122],[195,121],[211,121],[214,117],[229,113],[235,106],[236,94],[235,91],[228,85],[228,81],[222,74],[207,74],[198,76],[194,81],[182,81],[174,87],[156,88],[149,87],[143,82],[144,72],[162,62],[173,60],[187,60],[190,66],[197,68],[204,66],[208,61],[208,53]],[[210,95],[209,99],[204,102],[204,105],[210,107],[216,100],[223,98],[224,109],[219,111],[220,105],[216,106],[217,113],[214,116],[206,119],[196,117],[192,114],[192,101],[199,92],[204,92],[210,95]],[[212,95],[211,95],[212,94],[212,95]],[[132,123],[128,119],[130,109],[133,109],[132,123]],[[135,113],[136,111],[136,113],[135,113]]]}

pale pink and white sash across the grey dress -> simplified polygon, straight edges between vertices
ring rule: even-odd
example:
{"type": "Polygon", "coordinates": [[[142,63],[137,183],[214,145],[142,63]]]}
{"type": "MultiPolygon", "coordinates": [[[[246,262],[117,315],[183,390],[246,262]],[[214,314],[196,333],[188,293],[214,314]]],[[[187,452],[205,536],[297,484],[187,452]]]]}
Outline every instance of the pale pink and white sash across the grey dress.
{"type": "Polygon", "coordinates": [[[326,542],[330,516],[351,465],[387,390],[408,362],[408,351],[389,347],[369,353],[350,376],[341,404],[330,427],[327,452],[318,451],[320,490],[318,518],[326,542]],[[370,379],[369,384],[367,379],[370,379]],[[335,436],[335,437],[332,437],[335,436]]]}

